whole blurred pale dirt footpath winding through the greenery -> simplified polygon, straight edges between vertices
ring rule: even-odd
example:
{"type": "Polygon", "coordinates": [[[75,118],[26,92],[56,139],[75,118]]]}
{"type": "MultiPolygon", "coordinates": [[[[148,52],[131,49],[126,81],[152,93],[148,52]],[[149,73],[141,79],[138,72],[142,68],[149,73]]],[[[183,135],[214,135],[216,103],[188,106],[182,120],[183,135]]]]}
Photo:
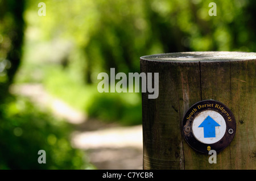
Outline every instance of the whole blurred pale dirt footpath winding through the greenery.
{"type": "Polygon", "coordinates": [[[41,84],[13,85],[10,91],[73,124],[72,145],[84,150],[97,169],[142,169],[142,125],[121,127],[88,119],[83,112],[49,95],[41,84]]]}

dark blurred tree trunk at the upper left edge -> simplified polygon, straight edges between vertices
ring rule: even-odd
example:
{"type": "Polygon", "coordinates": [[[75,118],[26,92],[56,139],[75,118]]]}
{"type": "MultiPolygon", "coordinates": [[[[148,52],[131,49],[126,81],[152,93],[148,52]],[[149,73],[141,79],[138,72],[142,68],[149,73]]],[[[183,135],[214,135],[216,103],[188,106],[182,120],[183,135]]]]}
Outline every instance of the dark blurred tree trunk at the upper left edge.
{"type": "Polygon", "coordinates": [[[6,98],[22,57],[24,0],[0,1],[0,102],[6,98]]]}

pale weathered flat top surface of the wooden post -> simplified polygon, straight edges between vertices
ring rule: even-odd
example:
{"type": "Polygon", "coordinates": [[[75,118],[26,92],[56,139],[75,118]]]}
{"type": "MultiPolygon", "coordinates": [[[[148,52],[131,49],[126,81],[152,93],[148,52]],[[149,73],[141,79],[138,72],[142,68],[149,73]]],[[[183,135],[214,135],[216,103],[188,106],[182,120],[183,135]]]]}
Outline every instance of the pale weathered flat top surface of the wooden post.
{"type": "Polygon", "coordinates": [[[152,54],[141,57],[142,60],[163,62],[215,62],[256,60],[254,52],[177,52],[152,54]]]}

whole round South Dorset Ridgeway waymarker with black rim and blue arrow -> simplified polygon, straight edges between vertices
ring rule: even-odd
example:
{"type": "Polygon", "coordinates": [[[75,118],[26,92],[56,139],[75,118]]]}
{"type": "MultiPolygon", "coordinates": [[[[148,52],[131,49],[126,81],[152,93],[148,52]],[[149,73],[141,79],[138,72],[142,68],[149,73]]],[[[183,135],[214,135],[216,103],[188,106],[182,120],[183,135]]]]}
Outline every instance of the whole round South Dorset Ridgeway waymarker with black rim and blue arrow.
{"type": "Polygon", "coordinates": [[[217,153],[226,148],[236,133],[233,113],[221,102],[203,100],[194,104],[183,118],[185,140],[195,150],[217,153]]]}

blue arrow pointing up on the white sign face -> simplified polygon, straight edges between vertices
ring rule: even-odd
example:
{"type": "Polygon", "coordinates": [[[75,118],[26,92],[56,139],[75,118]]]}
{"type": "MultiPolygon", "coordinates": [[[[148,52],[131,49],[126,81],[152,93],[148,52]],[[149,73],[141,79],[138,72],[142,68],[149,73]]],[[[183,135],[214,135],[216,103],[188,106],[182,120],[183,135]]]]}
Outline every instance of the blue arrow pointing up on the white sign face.
{"type": "Polygon", "coordinates": [[[215,135],[215,127],[220,127],[221,125],[218,124],[212,117],[207,116],[203,123],[199,125],[199,128],[203,127],[204,128],[204,137],[205,138],[214,138],[216,137],[215,135]]]}

